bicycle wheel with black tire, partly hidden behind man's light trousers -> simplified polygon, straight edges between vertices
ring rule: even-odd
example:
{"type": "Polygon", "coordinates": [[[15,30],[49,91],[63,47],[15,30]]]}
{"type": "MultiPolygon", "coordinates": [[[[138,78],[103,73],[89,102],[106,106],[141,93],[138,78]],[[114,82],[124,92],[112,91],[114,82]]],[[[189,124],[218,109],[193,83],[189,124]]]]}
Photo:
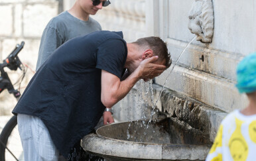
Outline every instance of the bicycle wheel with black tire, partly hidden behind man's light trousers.
{"type": "Polygon", "coordinates": [[[0,161],[7,160],[24,160],[17,126],[17,116],[11,117],[0,134],[0,161]]]}

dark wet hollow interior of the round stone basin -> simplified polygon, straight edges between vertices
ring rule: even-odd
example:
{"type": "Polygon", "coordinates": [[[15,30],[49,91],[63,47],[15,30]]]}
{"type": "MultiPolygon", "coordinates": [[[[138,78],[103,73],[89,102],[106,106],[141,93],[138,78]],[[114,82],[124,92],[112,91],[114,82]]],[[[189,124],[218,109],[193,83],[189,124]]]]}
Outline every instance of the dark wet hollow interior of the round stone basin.
{"type": "Polygon", "coordinates": [[[133,121],[113,124],[97,130],[97,134],[117,140],[155,144],[211,144],[208,134],[193,129],[176,118],[160,121],[133,121]],[[115,133],[113,133],[115,131],[115,133]]]}

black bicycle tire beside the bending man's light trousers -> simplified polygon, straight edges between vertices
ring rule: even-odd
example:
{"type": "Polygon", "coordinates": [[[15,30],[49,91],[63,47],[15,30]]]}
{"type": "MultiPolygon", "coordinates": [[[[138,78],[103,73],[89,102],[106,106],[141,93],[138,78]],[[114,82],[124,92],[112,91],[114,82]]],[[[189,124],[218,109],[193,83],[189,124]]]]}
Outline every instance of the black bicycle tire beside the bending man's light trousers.
{"type": "MultiPolygon", "coordinates": [[[[9,136],[11,135],[13,129],[15,129],[17,125],[17,116],[11,117],[11,119],[7,122],[5,127],[3,128],[3,131],[0,134],[0,140],[7,145],[9,136]]],[[[0,142],[0,161],[5,161],[5,151],[7,150],[3,144],[0,142]]]]}

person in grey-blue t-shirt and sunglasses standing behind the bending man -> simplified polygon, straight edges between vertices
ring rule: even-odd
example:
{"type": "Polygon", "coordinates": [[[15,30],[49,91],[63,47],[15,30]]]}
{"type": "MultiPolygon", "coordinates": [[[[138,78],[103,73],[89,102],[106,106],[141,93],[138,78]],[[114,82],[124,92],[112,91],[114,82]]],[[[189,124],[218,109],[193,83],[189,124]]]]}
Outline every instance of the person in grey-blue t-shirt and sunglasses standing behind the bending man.
{"type": "Polygon", "coordinates": [[[42,33],[36,71],[64,42],[76,36],[101,30],[99,23],[90,15],[96,15],[99,9],[109,4],[108,0],[77,0],[71,9],[51,19],[42,33]]]}

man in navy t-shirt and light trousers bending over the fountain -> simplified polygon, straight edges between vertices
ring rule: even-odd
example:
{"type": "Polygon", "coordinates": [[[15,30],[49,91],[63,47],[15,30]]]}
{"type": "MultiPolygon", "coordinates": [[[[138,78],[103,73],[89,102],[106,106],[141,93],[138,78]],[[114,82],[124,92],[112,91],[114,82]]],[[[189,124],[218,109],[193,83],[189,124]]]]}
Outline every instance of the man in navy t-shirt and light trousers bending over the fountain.
{"type": "Polygon", "coordinates": [[[25,160],[67,158],[105,107],[170,64],[166,44],[157,37],[126,43],[122,32],[98,31],[65,42],[38,69],[13,110],[25,160]]]}

